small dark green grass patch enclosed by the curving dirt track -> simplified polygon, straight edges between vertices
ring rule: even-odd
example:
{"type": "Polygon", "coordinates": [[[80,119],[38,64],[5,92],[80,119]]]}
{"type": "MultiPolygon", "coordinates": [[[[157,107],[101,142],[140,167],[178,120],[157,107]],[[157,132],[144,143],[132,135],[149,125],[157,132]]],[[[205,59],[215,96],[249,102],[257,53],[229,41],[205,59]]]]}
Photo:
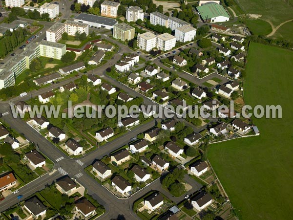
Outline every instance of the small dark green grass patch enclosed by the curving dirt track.
{"type": "Polygon", "coordinates": [[[272,26],[261,19],[247,19],[244,21],[254,35],[267,35],[272,32],[272,26]]]}

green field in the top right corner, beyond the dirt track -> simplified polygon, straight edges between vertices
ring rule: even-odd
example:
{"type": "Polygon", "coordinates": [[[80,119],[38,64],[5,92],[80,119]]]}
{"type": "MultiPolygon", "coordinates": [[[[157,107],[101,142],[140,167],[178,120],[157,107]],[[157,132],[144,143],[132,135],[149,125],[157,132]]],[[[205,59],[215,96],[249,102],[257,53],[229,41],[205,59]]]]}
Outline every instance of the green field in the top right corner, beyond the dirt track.
{"type": "Polygon", "coordinates": [[[271,21],[274,26],[293,19],[293,1],[288,0],[238,0],[239,7],[249,14],[262,15],[263,20],[271,21]]]}

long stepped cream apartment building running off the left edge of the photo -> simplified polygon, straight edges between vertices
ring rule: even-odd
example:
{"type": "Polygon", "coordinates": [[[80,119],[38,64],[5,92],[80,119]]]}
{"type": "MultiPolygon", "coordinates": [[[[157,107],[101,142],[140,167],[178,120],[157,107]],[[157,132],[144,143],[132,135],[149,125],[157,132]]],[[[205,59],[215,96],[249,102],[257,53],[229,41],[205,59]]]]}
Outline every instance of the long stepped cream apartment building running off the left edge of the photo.
{"type": "Polygon", "coordinates": [[[4,64],[0,66],[0,89],[15,85],[15,78],[29,68],[33,59],[43,56],[60,60],[65,53],[65,44],[47,41],[28,44],[21,54],[3,60],[4,64]]]}

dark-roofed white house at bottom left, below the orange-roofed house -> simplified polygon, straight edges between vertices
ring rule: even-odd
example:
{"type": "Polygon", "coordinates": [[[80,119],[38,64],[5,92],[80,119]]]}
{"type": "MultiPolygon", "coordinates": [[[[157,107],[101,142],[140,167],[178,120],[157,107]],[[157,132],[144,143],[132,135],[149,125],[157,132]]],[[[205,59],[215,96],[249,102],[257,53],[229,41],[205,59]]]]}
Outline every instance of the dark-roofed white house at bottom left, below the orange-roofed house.
{"type": "Polygon", "coordinates": [[[39,216],[44,217],[46,214],[46,207],[36,196],[26,200],[23,204],[23,208],[25,208],[34,219],[38,219],[39,216]]]}

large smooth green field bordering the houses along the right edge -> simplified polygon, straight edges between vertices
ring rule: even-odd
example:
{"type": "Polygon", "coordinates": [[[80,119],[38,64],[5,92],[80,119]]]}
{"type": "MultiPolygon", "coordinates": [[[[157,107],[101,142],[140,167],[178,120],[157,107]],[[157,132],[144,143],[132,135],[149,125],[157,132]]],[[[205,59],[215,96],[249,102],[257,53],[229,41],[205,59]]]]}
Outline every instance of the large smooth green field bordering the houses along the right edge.
{"type": "Polygon", "coordinates": [[[208,158],[241,220],[293,215],[293,52],[251,43],[247,105],[281,105],[281,119],[253,119],[260,136],[209,146],[208,158]]]}

